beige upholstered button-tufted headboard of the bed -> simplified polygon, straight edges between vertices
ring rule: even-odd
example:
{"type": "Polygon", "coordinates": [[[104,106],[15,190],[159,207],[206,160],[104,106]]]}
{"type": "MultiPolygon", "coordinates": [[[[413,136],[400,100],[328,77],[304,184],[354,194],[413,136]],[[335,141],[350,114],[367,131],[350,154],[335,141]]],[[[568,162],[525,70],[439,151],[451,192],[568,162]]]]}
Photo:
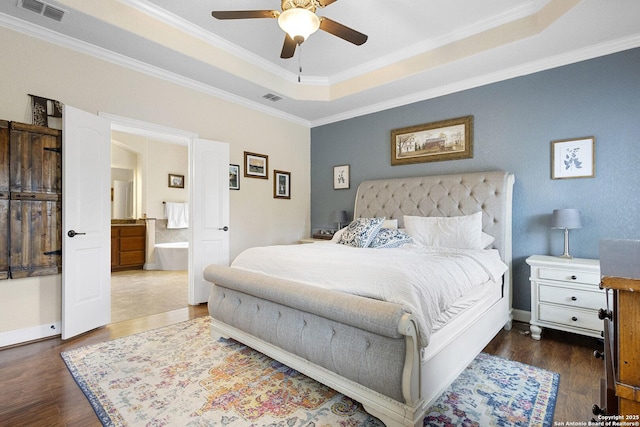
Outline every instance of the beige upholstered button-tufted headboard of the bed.
{"type": "Polygon", "coordinates": [[[511,202],[514,176],[504,171],[364,181],[358,187],[354,218],[404,215],[459,216],[481,210],[482,229],[511,266],[511,202]]]}

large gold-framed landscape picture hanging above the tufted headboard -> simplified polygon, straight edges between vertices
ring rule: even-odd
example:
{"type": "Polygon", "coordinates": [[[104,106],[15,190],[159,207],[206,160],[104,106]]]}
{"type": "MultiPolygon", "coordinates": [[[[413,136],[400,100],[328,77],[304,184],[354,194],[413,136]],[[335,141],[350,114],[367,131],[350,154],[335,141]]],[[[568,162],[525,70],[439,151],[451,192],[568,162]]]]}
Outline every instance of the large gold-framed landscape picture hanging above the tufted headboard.
{"type": "Polygon", "coordinates": [[[391,131],[391,165],[473,157],[473,116],[391,131]]]}

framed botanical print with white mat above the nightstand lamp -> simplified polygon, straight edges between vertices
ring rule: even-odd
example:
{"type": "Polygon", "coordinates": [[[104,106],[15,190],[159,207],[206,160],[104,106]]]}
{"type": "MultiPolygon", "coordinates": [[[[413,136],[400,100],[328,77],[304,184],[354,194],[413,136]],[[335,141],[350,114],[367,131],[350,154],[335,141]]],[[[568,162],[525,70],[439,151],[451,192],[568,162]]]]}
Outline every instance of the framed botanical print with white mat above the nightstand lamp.
{"type": "Polygon", "coordinates": [[[551,141],[551,179],[595,177],[595,149],[592,136],[551,141]]]}

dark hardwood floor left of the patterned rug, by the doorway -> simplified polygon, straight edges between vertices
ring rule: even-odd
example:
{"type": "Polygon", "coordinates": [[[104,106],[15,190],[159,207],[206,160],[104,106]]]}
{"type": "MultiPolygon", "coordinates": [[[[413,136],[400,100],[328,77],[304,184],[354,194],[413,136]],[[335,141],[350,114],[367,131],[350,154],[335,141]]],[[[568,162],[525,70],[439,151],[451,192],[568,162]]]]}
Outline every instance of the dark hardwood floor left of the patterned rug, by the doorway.
{"type": "Polygon", "coordinates": [[[0,426],[101,426],[60,353],[206,316],[206,304],[112,323],[78,338],[0,350],[0,426]]]}

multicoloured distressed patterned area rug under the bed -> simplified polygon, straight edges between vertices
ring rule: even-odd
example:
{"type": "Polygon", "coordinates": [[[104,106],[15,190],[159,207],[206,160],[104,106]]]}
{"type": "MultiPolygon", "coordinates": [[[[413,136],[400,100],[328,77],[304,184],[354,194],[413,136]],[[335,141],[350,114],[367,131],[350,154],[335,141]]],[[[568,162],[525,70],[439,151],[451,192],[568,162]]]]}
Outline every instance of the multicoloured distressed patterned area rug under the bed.
{"type": "MultiPolygon", "coordinates": [[[[105,426],[378,427],[336,391],[231,340],[202,317],[62,353],[105,426]]],[[[480,354],[425,426],[549,426],[559,375],[480,354]]]]}

